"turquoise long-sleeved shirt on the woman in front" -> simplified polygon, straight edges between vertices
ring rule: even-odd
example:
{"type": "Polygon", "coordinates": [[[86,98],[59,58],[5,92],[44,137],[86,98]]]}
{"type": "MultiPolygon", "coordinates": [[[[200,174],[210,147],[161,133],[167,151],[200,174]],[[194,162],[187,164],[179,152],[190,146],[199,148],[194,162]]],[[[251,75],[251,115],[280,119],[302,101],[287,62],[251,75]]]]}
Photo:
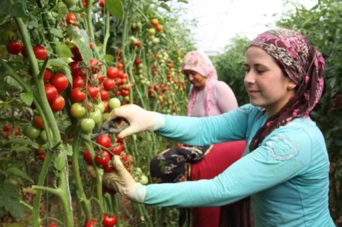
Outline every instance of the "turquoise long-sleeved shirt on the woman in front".
{"type": "MultiPolygon", "coordinates": [[[[212,117],[164,115],[157,134],[188,145],[246,139],[267,114],[251,104],[212,117]]],[[[227,151],[229,152],[229,151],[227,151]]],[[[251,196],[256,227],[335,226],[328,209],[329,159],[323,134],[310,118],[274,130],[261,145],[211,180],[150,184],[144,203],[216,207],[251,196]]]]}

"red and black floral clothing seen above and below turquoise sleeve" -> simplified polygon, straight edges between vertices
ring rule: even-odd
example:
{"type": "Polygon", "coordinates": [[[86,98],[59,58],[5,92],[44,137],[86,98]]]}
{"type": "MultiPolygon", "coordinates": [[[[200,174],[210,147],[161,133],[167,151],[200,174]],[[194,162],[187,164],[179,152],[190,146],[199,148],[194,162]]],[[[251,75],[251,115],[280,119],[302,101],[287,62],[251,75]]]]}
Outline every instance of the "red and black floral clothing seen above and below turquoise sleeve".
{"type": "MultiPolygon", "coordinates": [[[[152,181],[177,183],[213,179],[241,158],[245,148],[245,140],[201,147],[172,147],[150,162],[152,181]]],[[[249,197],[223,210],[232,216],[220,223],[220,207],[180,209],[179,226],[188,223],[189,227],[254,227],[249,197]]]]}

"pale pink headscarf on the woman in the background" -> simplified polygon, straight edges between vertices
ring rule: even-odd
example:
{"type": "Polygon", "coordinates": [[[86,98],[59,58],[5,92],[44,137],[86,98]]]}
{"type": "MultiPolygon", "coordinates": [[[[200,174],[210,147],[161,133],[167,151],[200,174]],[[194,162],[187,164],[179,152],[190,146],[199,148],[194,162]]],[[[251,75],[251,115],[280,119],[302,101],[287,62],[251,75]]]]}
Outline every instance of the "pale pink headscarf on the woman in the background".
{"type": "MultiPolygon", "coordinates": [[[[210,116],[210,99],[211,99],[211,91],[213,88],[213,81],[217,81],[217,72],[213,63],[209,59],[209,57],[202,52],[199,51],[191,51],[187,53],[183,60],[182,65],[182,72],[184,70],[192,70],[195,71],[202,76],[207,77],[206,87],[204,88],[204,95],[205,95],[205,103],[204,106],[206,108],[206,115],[210,116]]],[[[191,111],[196,101],[198,91],[196,89],[192,89],[190,91],[189,97],[189,104],[188,104],[188,111],[187,115],[191,115],[191,111]]]]}

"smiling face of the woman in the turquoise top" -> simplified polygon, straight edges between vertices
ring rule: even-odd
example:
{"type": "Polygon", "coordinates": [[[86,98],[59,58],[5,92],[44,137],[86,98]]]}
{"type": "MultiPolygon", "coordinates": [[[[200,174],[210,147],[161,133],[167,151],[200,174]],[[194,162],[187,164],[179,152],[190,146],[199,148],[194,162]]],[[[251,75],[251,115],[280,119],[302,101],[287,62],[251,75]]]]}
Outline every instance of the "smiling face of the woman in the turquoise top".
{"type": "Polygon", "coordinates": [[[259,47],[247,49],[244,83],[250,103],[277,113],[294,94],[295,84],[285,76],[275,59],[259,47]]]}

